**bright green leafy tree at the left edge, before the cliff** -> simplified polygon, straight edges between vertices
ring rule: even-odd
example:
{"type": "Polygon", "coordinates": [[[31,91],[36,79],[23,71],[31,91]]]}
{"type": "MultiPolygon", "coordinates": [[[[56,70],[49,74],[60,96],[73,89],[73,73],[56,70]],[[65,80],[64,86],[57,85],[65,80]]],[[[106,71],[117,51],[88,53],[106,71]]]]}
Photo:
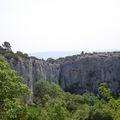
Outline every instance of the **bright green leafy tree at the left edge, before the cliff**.
{"type": "Polygon", "coordinates": [[[0,120],[25,120],[27,111],[22,99],[30,89],[21,80],[0,57],[0,120]]]}

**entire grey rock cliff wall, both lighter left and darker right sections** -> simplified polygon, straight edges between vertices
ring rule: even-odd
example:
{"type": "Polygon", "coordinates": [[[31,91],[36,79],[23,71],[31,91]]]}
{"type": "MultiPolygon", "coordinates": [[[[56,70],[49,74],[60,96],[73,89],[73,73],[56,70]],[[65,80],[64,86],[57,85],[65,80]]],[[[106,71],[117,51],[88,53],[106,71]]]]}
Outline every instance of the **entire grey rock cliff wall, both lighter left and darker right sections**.
{"type": "MultiPolygon", "coordinates": [[[[9,60],[34,93],[37,80],[59,84],[65,91],[97,93],[100,82],[108,82],[114,94],[120,91],[120,53],[82,54],[54,61],[37,59],[9,60]]],[[[32,99],[32,94],[29,96],[32,99]]]]}

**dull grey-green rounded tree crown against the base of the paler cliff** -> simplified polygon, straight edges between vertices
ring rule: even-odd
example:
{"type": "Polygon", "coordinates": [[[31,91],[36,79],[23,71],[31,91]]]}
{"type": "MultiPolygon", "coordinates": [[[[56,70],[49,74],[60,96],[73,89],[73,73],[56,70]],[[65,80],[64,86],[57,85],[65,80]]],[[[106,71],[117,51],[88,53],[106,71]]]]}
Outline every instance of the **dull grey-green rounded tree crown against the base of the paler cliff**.
{"type": "Polygon", "coordinates": [[[56,99],[64,95],[63,90],[54,83],[49,83],[46,80],[39,80],[35,84],[34,102],[36,104],[45,105],[50,99],[56,99]]]}

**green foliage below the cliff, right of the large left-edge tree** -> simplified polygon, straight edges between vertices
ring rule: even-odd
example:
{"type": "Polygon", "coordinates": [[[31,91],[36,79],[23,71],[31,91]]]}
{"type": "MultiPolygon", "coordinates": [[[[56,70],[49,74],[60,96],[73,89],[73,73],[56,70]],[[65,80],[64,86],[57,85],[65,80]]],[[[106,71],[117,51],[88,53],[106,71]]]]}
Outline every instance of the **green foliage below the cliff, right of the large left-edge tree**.
{"type": "Polygon", "coordinates": [[[111,96],[106,83],[101,83],[100,94],[74,95],[48,81],[36,83],[35,98],[40,107],[41,120],[119,120],[120,99],[111,96]],[[55,86],[54,86],[55,85],[55,86]]]}

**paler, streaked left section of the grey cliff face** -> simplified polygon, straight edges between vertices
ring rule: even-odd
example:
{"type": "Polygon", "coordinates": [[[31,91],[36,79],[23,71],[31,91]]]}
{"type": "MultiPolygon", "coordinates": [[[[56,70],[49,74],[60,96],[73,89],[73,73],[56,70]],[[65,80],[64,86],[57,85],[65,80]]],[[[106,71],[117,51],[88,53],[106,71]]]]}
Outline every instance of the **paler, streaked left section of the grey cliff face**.
{"type": "MultiPolygon", "coordinates": [[[[60,64],[51,64],[43,60],[27,59],[18,60],[10,59],[11,67],[17,71],[18,75],[23,77],[23,83],[27,84],[34,92],[34,84],[37,80],[48,80],[59,84],[60,64]]],[[[32,99],[33,94],[27,99],[32,99]]]]}

